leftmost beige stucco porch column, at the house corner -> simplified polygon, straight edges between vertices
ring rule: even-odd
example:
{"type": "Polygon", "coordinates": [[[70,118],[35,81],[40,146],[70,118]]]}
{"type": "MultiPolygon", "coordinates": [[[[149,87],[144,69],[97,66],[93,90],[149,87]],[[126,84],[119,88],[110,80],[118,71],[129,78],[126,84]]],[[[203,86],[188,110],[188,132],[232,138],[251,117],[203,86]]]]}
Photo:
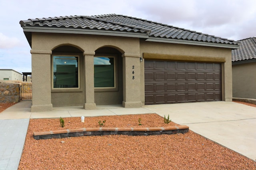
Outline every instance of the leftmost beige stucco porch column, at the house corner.
{"type": "Polygon", "coordinates": [[[51,54],[48,50],[31,50],[32,106],[31,111],[52,111],[51,54]]]}

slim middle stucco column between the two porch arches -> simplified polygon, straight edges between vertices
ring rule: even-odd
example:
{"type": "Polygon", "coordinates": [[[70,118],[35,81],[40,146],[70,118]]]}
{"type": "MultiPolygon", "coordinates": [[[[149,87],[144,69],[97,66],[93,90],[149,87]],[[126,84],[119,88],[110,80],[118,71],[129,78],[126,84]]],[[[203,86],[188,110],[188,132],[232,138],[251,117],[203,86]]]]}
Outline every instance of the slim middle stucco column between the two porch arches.
{"type": "Polygon", "coordinates": [[[94,63],[95,52],[84,52],[84,109],[96,109],[94,102],[94,63]]]}

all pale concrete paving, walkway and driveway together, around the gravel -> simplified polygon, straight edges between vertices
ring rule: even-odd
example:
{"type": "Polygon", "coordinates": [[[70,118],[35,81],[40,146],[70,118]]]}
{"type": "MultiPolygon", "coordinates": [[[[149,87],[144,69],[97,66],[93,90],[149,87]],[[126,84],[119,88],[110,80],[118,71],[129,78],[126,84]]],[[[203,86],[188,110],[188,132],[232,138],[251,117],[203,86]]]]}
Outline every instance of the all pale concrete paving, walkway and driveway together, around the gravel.
{"type": "Polygon", "coordinates": [[[54,107],[53,111],[30,112],[32,102],[20,102],[0,113],[0,170],[16,170],[20,161],[29,119],[157,113],[175,123],[256,160],[256,107],[234,102],[198,102],[123,108],[120,105],[54,107]],[[2,168],[4,167],[4,168],[2,168]]]}

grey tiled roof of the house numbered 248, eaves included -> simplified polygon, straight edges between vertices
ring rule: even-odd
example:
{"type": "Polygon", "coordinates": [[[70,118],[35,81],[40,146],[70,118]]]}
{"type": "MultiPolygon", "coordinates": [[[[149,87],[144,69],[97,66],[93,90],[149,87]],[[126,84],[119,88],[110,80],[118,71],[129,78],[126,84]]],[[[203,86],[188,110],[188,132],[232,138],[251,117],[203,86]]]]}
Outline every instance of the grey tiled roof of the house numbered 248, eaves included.
{"type": "Polygon", "coordinates": [[[31,46],[31,32],[76,33],[139,37],[145,41],[203,45],[237,49],[234,40],[139,18],[108,14],[99,16],[62,16],[20,21],[31,46]]]}

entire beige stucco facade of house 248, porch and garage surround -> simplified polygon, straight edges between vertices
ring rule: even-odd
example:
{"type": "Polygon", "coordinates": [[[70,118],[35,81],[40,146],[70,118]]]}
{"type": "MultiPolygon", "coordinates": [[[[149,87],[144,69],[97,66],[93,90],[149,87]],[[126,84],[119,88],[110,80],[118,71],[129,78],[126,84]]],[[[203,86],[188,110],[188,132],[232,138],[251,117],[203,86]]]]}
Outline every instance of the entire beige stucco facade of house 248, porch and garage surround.
{"type": "MultiPolygon", "coordinates": [[[[140,41],[138,38],[110,37],[76,34],[32,33],[33,98],[31,111],[49,111],[53,106],[83,105],[84,109],[95,109],[96,104],[121,104],[124,107],[141,107],[144,104],[144,62],[143,53],[179,56],[219,57],[222,64],[223,100],[232,101],[231,49],[178,45],[140,41]],[[56,90],[51,84],[52,50],[62,45],[80,49],[80,89],[56,90]],[[120,52],[118,62],[122,75],[118,76],[120,87],[117,92],[94,91],[95,51],[112,47],[120,52]],[[120,67],[122,66],[122,67],[120,67]],[[134,74],[132,72],[134,71],[134,74]],[[50,76],[51,75],[51,76],[50,76]],[[122,94],[120,94],[122,93],[122,94]]],[[[119,72],[121,72],[119,70],[119,72]]]]}

